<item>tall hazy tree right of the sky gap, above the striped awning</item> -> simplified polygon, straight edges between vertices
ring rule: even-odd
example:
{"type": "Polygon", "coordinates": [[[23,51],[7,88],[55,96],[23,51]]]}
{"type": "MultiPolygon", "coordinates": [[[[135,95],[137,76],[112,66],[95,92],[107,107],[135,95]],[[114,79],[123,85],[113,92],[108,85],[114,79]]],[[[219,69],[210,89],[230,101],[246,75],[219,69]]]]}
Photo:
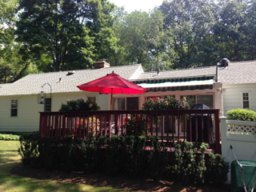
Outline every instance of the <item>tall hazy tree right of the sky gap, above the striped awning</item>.
{"type": "Polygon", "coordinates": [[[214,6],[210,0],[162,2],[159,10],[165,15],[165,30],[171,31],[169,38],[174,43],[174,68],[203,65],[206,42],[215,22],[214,6]]]}

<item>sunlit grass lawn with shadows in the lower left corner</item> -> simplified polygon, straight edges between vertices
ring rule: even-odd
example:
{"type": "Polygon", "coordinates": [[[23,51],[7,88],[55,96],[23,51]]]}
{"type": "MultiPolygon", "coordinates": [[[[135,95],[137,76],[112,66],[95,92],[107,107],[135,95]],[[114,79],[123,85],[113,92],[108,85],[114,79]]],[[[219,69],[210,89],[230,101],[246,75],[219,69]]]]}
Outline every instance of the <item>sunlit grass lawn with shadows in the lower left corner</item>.
{"type": "Polygon", "coordinates": [[[19,142],[0,141],[0,191],[102,191],[118,192],[110,187],[94,187],[86,184],[73,182],[58,182],[54,180],[40,180],[35,178],[26,178],[10,173],[14,166],[21,163],[21,158],[17,152],[19,142]]]}

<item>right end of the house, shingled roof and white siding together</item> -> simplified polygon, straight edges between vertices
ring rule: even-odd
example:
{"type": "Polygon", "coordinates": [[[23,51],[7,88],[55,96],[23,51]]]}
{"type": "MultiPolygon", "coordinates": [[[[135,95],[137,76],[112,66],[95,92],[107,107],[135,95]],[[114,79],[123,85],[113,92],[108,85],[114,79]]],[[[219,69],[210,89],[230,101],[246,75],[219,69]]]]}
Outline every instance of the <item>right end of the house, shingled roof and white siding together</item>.
{"type": "Polygon", "coordinates": [[[228,62],[218,65],[218,82],[222,82],[222,109],[256,111],[256,61],[228,62]]]}

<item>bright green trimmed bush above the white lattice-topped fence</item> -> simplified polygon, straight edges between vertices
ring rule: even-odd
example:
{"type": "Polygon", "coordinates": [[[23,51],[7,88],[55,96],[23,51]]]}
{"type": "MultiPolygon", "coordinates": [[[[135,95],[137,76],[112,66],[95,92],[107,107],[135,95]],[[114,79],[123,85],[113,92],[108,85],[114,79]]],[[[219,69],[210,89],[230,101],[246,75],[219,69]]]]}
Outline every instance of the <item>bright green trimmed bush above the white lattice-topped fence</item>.
{"type": "Polygon", "coordinates": [[[227,118],[230,120],[256,122],[254,110],[236,109],[227,111],[227,118]]]}

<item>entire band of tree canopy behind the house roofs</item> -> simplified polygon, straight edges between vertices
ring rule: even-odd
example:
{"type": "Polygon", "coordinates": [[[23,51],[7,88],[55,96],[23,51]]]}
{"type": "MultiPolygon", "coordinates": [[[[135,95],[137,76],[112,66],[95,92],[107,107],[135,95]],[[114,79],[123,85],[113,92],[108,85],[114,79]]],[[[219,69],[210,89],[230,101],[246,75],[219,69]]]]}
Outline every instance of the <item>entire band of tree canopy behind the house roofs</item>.
{"type": "Polygon", "coordinates": [[[130,14],[108,0],[0,1],[0,81],[99,58],[146,71],[254,60],[255,13],[256,0],[163,0],[130,14]]]}

